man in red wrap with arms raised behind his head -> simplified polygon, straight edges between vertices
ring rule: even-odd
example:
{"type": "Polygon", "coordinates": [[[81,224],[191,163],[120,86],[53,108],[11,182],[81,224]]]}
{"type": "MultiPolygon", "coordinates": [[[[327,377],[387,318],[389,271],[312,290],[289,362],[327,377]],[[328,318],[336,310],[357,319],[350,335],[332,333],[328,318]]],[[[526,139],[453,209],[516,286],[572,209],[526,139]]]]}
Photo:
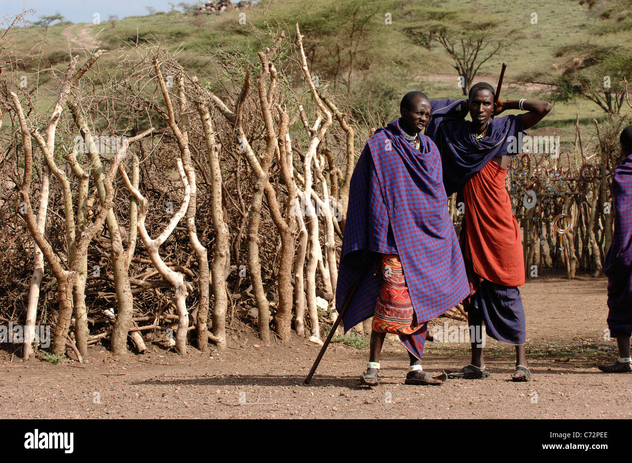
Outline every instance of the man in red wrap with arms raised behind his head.
{"type": "Polygon", "coordinates": [[[490,337],[516,346],[514,381],[532,377],[526,368],[525,310],[518,286],[525,284],[520,227],[505,188],[509,155],[521,152],[522,131],[550,111],[532,100],[497,100],[489,83],[477,83],[468,100],[432,100],[426,135],[441,152],[447,195],[463,203],[461,246],[470,282],[465,301],[471,335],[471,363],[449,378],[487,378],[482,323],[490,337]],[[525,114],[492,118],[505,109],[525,114]],[[470,113],[471,122],[463,118],[470,113]]]}

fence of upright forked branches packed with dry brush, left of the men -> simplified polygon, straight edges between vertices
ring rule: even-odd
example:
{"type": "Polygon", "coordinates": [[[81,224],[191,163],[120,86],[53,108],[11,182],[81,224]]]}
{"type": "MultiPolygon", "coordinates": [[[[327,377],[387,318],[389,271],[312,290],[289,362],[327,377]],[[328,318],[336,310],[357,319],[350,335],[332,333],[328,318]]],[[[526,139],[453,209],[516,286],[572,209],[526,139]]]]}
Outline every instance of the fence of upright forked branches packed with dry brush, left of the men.
{"type": "Polygon", "coordinates": [[[209,54],[214,76],[160,44],[118,51],[111,71],[98,70],[104,50],[73,56],[46,111],[8,66],[5,320],[50,323],[53,351],[81,355],[94,342],[124,353],[128,336],[142,351],[157,330],[180,353],[187,340],[222,348],[227,325],[251,319],[265,343],[271,328],[320,342],[367,133],[317,87],[298,26],[286,35],[257,64],[209,54]]]}

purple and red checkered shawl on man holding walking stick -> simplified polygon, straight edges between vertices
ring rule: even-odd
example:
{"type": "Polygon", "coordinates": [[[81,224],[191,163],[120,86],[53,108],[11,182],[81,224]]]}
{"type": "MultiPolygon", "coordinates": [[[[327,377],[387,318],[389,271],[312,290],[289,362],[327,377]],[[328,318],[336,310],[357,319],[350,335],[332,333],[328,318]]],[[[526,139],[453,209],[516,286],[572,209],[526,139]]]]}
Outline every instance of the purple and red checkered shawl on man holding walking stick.
{"type": "Polygon", "coordinates": [[[382,285],[376,253],[401,260],[418,323],[427,322],[469,294],[463,256],[447,212],[441,156],[432,140],[419,135],[416,150],[401,134],[399,121],[379,128],[358,159],[349,187],[336,309],[345,332],[374,314],[382,285]],[[375,275],[377,273],[377,275],[375,275]]]}

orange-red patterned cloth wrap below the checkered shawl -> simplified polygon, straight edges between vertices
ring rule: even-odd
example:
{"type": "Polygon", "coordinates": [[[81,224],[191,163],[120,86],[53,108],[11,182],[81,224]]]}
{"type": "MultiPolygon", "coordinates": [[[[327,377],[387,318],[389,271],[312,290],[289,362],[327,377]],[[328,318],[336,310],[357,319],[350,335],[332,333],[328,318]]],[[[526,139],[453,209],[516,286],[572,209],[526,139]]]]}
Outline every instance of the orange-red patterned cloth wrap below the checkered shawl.
{"type": "Polygon", "coordinates": [[[415,311],[398,255],[389,254],[382,257],[382,275],[384,281],[375,303],[373,330],[399,335],[415,333],[424,323],[415,323],[415,311]]]}

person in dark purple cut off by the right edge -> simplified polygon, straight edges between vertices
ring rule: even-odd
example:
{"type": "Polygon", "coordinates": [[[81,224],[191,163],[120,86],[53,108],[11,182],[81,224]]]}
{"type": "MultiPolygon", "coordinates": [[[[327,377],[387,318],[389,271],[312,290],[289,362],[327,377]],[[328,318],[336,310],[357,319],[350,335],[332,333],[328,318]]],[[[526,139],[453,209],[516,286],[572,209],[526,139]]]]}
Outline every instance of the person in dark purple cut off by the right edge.
{"type": "Polygon", "coordinates": [[[604,274],[608,277],[608,329],[617,339],[619,358],[600,365],[606,373],[628,373],[630,335],[632,335],[632,126],[619,136],[623,162],[612,176],[614,234],[605,256],[604,274]]]}

